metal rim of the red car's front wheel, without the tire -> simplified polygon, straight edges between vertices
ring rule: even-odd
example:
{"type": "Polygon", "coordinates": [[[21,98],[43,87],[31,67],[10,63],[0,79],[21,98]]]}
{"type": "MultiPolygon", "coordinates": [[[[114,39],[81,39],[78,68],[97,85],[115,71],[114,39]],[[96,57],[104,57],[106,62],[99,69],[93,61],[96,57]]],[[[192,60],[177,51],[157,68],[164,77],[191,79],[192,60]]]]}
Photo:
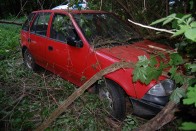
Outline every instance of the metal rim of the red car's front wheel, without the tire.
{"type": "Polygon", "coordinates": [[[106,89],[106,87],[100,88],[99,90],[99,98],[103,101],[106,102],[106,106],[109,110],[113,110],[113,100],[112,100],[112,95],[106,89]]]}

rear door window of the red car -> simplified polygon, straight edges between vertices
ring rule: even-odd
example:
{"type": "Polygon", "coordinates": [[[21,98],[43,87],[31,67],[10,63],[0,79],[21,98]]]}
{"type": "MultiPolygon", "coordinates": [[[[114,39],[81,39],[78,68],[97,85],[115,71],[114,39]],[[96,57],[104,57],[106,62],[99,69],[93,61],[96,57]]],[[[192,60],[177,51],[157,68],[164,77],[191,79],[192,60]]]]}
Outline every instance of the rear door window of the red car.
{"type": "Polygon", "coordinates": [[[50,13],[39,13],[31,27],[31,33],[46,36],[50,13]]]}

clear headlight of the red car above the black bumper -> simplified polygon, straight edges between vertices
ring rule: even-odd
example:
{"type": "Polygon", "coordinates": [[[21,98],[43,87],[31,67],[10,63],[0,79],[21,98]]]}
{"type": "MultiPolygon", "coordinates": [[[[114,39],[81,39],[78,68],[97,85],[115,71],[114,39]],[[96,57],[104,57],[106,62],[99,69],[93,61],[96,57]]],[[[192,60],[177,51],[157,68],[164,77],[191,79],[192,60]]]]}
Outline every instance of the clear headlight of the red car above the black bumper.
{"type": "Polygon", "coordinates": [[[154,85],[147,94],[154,96],[167,96],[174,90],[175,84],[172,80],[166,79],[154,85]]]}

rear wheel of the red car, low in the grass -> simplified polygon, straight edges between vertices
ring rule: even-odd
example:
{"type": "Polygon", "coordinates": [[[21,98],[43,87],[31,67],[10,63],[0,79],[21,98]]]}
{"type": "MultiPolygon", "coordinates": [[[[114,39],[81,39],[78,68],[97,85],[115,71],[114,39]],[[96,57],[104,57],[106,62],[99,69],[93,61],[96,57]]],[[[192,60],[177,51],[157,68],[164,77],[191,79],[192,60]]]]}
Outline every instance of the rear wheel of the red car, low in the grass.
{"type": "Polygon", "coordinates": [[[35,63],[31,53],[28,51],[28,49],[26,49],[24,51],[23,54],[23,60],[24,60],[24,64],[25,66],[29,69],[29,70],[33,70],[36,71],[37,70],[37,64],[35,63]]]}

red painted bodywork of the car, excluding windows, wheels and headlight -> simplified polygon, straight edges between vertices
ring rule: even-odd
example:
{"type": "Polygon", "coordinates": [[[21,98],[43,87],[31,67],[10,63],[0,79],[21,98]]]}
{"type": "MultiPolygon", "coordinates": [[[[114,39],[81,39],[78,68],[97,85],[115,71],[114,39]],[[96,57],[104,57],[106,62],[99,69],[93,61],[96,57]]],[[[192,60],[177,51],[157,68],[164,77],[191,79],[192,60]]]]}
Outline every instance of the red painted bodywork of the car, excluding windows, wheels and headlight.
{"type": "MultiPolygon", "coordinates": [[[[138,60],[138,56],[146,55],[149,57],[149,54],[154,51],[160,52],[160,50],[150,48],[149,45],[163,49],[168,48],[167,46],[160,45],[149,40],[144,40],[131,45],[115,46],[113,48],[99,48],[94,50],[91,46],[89,46],[88,41],[74,20],[72,14],[105,12],[82,10],[70,11],[70,13],[68,13],[63,10],[44,10],[35,11],[34,13],[39,12],[51,12],[47,35],[45,37],[37,36],[29,33],[28,31],[22,30],[22,47],[25,46],[29,49],[37,64],[57,75],[60,75],[65,80],[68,80],[77,86],[81,86],[95,73],[115,62],[123,60],[135,63],[138,60]],[[54,13],[65,14],[70,17],[76,32],[84,44],[82,48],[76,48],[50,38],[50,28],[54,13]],[[31,39],[31,42],[28,42],[29,38],[31,39]],[[53,47],[52,51],[48,50],[49,46],[53,47]],[[86,80],[81,81],[83,76],[85,76],[86,80]]],[[[140,99],[153,85],[156,84],[156,82],[152,81],[149,85],[145,85],[140,82],[133,83],[132,70],[133,69],[120,69],[106,75],[105,77],[118,83],[125,90],[128,96],[140,99]]],[[[164,79],[164,77],[161,77],[160,79],[164,79]]]]}

